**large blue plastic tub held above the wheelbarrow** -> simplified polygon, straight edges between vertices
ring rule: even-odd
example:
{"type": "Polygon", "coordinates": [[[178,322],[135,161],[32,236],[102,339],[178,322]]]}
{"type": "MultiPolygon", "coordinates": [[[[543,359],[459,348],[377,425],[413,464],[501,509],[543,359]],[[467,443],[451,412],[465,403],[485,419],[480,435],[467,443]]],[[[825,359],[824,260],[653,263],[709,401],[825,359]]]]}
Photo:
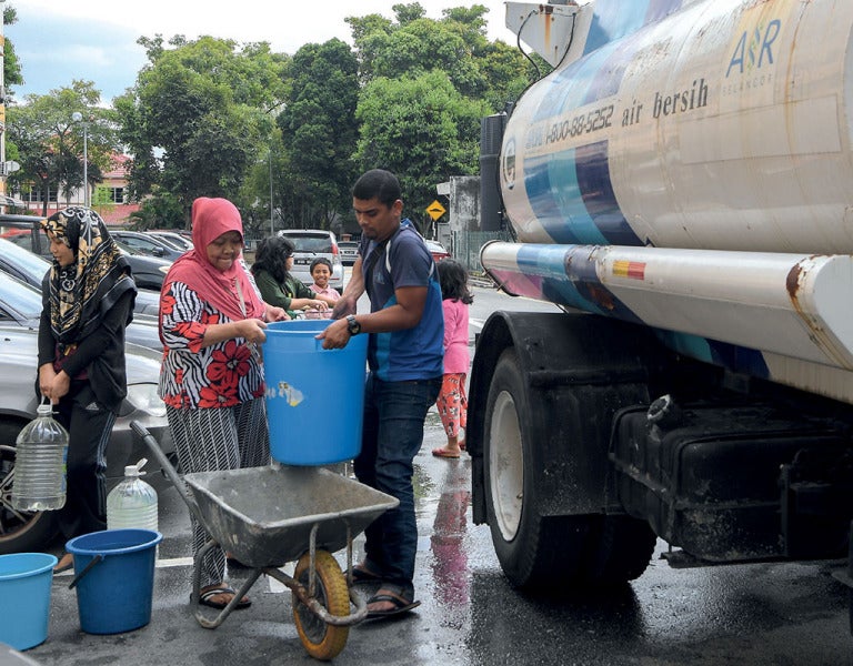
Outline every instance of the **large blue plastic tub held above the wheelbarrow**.
{"type": "Polygon", "coordinates": [[[328,465],[361,451],[368,336],[342,350],[315,340],[332,320],[295,320],[267,326],[263,366],[272,460],[328,465]]]}

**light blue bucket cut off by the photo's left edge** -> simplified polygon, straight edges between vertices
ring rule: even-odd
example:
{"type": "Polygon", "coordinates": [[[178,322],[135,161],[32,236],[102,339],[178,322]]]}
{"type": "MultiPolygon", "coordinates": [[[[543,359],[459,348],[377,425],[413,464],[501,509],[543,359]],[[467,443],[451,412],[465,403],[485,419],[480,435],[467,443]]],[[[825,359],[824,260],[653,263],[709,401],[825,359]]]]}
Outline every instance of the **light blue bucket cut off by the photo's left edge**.
{"type": "Polygon", "coordinates": [[[14,649],[44,643],[56,564],[46,553],[0,555],[0,643],[14,649]]]}

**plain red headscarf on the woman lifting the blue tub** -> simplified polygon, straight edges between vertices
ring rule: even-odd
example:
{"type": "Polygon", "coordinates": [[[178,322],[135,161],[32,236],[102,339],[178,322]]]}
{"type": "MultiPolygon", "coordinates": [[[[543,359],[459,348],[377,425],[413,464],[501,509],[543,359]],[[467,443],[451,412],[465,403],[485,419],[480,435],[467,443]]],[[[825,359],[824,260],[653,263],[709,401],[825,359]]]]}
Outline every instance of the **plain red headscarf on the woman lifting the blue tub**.
{"type": "Polygon", "coordinates": [[[213,305],[233,321],[242,319],[262,319],[265,311],[263,301],[254,291],[249,275],[240,260],[234,258],[231,268],[220,271],[208,261],[208,245],[223,233],[237,231],[243,235],[240,211],[227,199],[200,196],[192,202],[192,244],[193,250],[184,252],[169,269],[163,281],[162,294],[169,291],[172,282],[182,282],[193,290],[199,297],[213,305]],[[245,303],[245,315],[240,307],[237,284],[245,303]]]}

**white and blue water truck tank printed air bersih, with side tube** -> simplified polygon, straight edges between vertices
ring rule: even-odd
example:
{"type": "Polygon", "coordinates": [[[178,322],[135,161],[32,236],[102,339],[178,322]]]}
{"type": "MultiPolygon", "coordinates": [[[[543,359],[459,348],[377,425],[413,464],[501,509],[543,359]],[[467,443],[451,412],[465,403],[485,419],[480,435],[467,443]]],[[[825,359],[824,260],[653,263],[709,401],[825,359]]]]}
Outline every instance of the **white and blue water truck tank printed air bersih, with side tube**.
{"type": "Polygon", "coordinates": [[[508,23],[556,67],[506,123],[522,244],[484,249],[495,281],[853,401],[853,4],[509,3],[508,23]]]}

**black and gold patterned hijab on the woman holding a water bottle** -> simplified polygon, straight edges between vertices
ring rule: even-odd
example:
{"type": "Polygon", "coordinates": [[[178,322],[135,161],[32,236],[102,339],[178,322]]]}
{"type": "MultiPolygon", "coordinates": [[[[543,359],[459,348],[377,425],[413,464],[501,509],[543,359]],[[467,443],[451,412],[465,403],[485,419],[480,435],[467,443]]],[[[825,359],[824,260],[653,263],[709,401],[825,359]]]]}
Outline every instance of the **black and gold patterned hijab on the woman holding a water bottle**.
{"type": "Polygon", "coordinates": [[[128,260],[93,210],[67,208],[42,220],[41,226],[74,253],[71,265],[54,261],[48,273],[50,327],[58,342],[70,344],[97,329],[102,314],[126,291],[136,291],[136,284],[128,260]]]}

